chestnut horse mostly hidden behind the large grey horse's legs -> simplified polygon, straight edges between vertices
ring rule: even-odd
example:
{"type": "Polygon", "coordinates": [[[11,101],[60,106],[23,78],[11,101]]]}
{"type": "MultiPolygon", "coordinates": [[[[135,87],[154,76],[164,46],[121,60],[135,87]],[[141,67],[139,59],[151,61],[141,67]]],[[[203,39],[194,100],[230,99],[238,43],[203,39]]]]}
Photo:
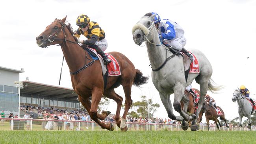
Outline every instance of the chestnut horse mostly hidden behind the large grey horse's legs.
{"type": "MultiPolygon", "coordinates": [[[[193,89],[193,90],[197,91],[197,93],[200,96],[200,90],[198,90],[198,89],[193,89]]],[[[183,101],[182,100],[180,101],[180,105],[181,105],[183,111],[187,112],[187,113],[195,114],[196,108],[195,108],[195,99],[194,99],[193,95],[190,92],[188,92],[187,90],[184,91],[184,94],[187,96],[187,98],[189,98],[189,103],[188,103],[188,106],[187,106],[187,110],[185,110],[185,109],[183,109],[184,108],[183,101]]],[[[189,127],[191,127],[191,121],[190,120],[188,121],[188,123],[189,123],[189,127]]]]}

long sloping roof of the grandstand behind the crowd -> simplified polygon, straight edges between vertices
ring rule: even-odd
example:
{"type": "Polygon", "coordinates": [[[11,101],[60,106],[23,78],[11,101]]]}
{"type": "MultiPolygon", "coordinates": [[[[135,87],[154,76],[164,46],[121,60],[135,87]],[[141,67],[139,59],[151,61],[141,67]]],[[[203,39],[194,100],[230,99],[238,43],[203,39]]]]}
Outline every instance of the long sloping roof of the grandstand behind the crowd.
{"type": "Polygon", "coordinates": [[[32,81],[22,81],[22,83],[24,88],[20,89],[20,92],[41,94],[56,98],[67,98],[70,100],[76,100],[78,98],[78,95],[70,88],[46,85],[32,81]]]}

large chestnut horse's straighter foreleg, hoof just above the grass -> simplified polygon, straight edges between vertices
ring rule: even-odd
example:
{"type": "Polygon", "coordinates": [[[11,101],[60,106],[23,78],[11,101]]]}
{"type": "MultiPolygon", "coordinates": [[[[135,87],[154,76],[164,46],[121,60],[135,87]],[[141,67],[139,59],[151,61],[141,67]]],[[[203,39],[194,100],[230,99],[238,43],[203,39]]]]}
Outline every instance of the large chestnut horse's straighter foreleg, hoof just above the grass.
{"type": "Polygon", "coordinates": [[[92,90],[92,102],[91,102],[91,109],[90,109],[90,114],[91,118],[103,129],[108,129],[109,131],[113,131],[115,128],[113,127],[112,124],[105,124],[103,122],[100,122],[97,116],[97,109],[98,109],[98,104],[100,103],[102,97],[102,89],[99,89],[95,87],[92,90]]]}

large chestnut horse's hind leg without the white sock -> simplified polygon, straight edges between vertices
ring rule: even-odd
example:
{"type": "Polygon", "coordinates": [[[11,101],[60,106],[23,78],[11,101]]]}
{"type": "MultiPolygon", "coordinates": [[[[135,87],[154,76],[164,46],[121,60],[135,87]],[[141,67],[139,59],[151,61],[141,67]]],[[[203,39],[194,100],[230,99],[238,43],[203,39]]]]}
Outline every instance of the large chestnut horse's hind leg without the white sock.
{"type": "Polygon", "coordinates": [[[120,127],[121,120],[120,120],[120,111],[122,107],[122,100],[123,98],[119,96],[117,93],[115,93],[114,89],[108,89],[104,92],[104,96],[107,98],[113,99],[117,103],[117,111],[115,113],[115,121],[117,123],[117,126],[120,127]]]}

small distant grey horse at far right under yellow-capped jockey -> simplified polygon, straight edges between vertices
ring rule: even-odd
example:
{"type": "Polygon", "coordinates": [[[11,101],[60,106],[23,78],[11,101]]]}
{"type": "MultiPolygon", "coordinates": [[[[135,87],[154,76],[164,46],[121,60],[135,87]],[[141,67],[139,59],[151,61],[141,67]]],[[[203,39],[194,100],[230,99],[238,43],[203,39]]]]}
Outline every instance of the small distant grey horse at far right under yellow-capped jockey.
{"type": "Polygon", "coordinates": [[[248,118],[248,128],[252,130],[251,128],[251,115],[255,113],[255,110],[253,110],[252,104],[247,100],[246,98],[243,98],[240,90],[235,90],[233,93],[233,102],[237,101],[238,105],[238,114],[239,114],[239,126],[242,127],[242,118],[243,116],[248,118]]]}

